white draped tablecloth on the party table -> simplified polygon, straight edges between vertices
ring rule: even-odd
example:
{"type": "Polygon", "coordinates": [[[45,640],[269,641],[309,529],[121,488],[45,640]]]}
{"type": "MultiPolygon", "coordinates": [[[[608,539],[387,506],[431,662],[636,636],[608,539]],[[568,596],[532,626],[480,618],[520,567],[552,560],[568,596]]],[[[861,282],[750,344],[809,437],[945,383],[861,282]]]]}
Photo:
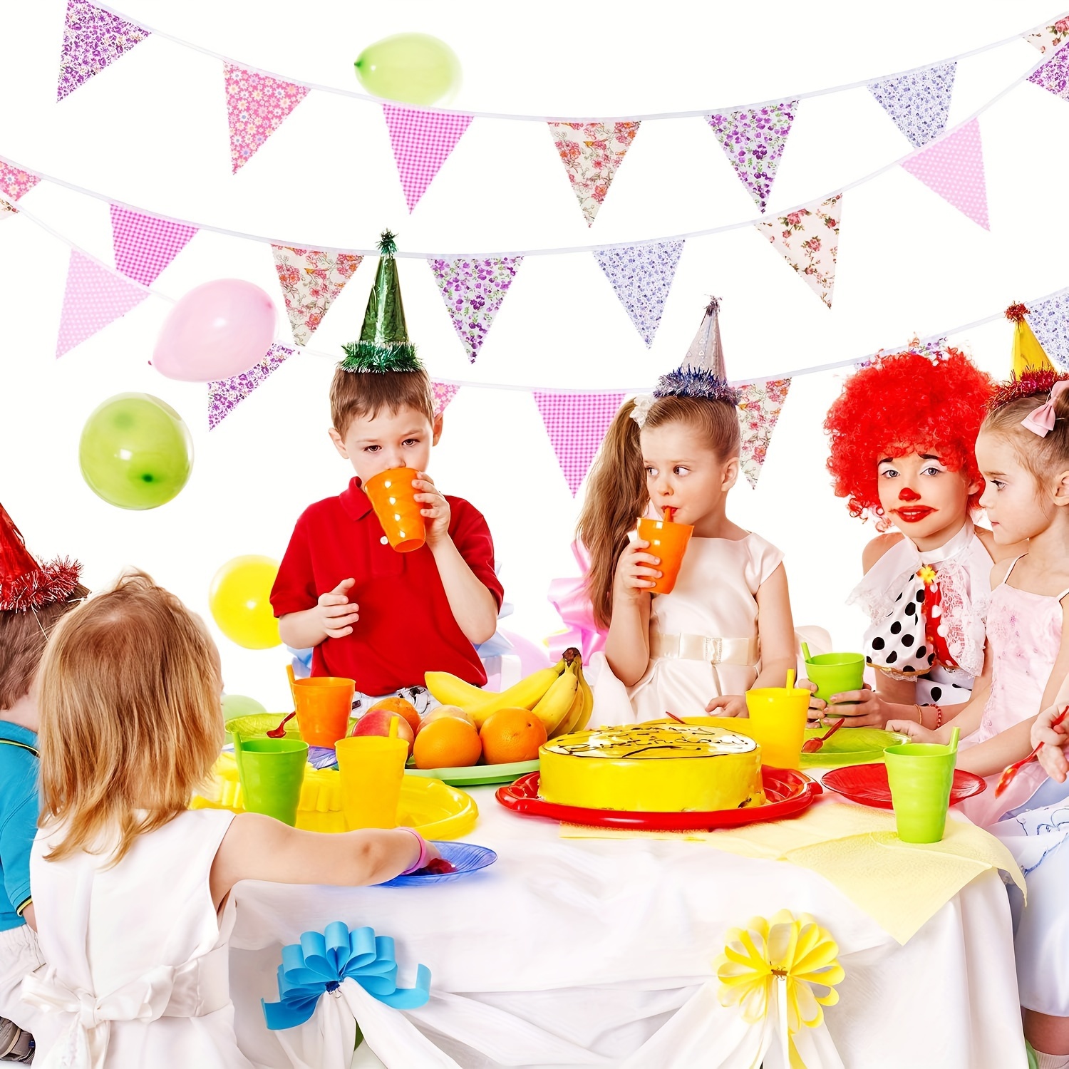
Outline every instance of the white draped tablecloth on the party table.
{"type": "MultiPolygon", "coordinates": [[[[343,920],[396,939],[402,986],[417,962],[431,969],[431,1002],[406,1016],[464,1069],[748,1069],[754,1052],[738,1011],[717,1004],[711,963],[728,928],[789,909],[831,930],[847,974],[807,1069],[1027,1065],[994,872],[899,946],[808,870],[701,841],[561,839],[555,822],[506,810],[493,788],[471,793],[480,819],[468,838],[498,853],[483,873],[423,888],[235,887],[231,990],[250,1059],[290,1065],[260,1008],[278,997],[281,945],[343,920]]],[[[765,1066],[779,1065],[774,1045],[765,1066]]]]}

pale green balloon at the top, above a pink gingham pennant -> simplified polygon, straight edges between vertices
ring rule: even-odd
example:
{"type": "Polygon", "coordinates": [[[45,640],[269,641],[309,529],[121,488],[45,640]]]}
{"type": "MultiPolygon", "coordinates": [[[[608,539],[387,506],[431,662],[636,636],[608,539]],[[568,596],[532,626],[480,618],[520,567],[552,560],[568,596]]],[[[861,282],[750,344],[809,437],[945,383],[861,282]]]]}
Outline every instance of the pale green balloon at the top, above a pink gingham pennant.
{"type": "Polygon", "coordinates": [[[424,107],[461,83],[461,63],[444,41],[428,33],[394,33],[368,45],[356,58],[356,75],[375,96],[424,107]]]}

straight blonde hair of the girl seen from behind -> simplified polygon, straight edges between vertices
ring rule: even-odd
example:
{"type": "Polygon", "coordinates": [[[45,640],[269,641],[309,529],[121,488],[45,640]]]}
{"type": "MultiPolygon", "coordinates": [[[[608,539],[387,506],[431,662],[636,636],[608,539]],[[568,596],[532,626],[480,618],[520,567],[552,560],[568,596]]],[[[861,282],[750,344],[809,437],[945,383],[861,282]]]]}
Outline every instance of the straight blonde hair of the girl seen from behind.
{"type": "Polygon", "coordinates": [[[47,859],[119,862],[182,812],[222,747],[220,688],[203,623],[142,572],[68,614],[40,677],[40,823],[63,828],[47,859]]]}

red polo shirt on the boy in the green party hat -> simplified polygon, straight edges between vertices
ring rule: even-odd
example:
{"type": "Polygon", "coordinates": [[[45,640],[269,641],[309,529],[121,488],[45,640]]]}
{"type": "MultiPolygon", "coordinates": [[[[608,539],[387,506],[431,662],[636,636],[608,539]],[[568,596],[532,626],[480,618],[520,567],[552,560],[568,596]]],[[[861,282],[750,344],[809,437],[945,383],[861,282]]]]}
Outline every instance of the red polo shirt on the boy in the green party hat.
{"type": "MultiPolygon", "coordinates": [[[[461,497],[449,502],[449,534],[468,568],[494,595],[494,542],[482,513],[461,497]]],[[[448,671],[481,686],[486,672],[453,618],[434,555],[425,546],[398,553],[368,495],[354,478],[337,497],[301,513],[270,592],[276,616],[311,608],[320,594],[351,576],[348,599],[359,605],[353,634],[325,638],[312,654],[313,676],[356,680],[365,694],[422,684],[427,671],[448,671]]]]}

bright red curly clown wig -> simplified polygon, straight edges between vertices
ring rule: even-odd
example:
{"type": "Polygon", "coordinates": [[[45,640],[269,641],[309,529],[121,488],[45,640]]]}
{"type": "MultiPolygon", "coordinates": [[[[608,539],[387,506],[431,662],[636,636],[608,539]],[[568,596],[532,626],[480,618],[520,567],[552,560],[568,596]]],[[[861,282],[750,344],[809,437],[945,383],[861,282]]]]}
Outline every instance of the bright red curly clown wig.
{"type": "Polygon", "coordinates": [[[991,378],[956,348],[935,357],[877,357],[851,375],[824,420],[836,496],[847,498],[852,516],[881,516],[880,459],[930,452],[980,483],[969,499],[970,509],[977,508],[983,479],[973,450],[993,392],[991,378]]]}

